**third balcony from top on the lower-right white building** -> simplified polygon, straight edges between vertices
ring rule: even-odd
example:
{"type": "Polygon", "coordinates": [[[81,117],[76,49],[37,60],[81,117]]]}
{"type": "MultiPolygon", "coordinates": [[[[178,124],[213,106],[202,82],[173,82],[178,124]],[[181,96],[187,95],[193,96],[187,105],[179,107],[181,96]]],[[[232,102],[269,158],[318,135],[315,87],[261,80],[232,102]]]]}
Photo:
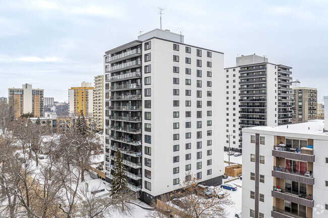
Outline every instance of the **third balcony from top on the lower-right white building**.
{"type": "Polygon", "coordinates": [[[277,188],[274,186],[274,189],[271,191],[271,196],[307,207],[314,206],[314,200],[311,194],[303,194],[292,190],[286,191],[283,188],[277,188]]]}

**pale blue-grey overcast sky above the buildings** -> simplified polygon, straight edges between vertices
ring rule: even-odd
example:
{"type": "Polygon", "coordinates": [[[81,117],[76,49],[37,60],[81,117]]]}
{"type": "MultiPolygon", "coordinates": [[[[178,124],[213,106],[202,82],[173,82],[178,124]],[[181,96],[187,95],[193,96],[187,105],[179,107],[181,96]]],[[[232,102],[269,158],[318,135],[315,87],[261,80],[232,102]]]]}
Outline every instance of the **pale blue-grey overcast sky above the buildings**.
{"type": "Polygon", "coordinates": [[[0,0],[0,97],[29,83],[44,97],[103,74],[103,54],[159,28],[185,43],[237,55],[266,55],[292,66],[293,79],[328,95],[328,1],[5,1],[0,0]]]}

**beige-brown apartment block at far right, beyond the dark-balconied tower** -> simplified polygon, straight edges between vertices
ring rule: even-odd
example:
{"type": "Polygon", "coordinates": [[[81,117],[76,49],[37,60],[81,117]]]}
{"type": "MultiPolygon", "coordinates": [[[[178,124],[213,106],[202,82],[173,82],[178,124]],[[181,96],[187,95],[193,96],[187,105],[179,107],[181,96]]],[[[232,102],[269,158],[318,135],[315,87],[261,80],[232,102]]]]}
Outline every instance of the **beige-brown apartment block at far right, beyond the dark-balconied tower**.
{"type": "Polygon", "coordinates": [[[316,119],[317,90],[308,87],[294,87],[293,123],[316,119]]]}

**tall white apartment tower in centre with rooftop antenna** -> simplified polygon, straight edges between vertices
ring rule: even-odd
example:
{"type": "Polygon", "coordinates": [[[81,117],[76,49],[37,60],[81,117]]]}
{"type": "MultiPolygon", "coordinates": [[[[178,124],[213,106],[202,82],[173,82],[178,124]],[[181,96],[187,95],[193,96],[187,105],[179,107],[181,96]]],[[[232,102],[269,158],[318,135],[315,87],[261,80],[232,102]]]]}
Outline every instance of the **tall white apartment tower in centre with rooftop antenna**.
{"type": "Polygon", "coordinates": [[[221,184],[223,65],[223,53],[159,29],[105,52],[106,180],[119,149],[130,188],[147,203],[188,175],[221,184]]]}

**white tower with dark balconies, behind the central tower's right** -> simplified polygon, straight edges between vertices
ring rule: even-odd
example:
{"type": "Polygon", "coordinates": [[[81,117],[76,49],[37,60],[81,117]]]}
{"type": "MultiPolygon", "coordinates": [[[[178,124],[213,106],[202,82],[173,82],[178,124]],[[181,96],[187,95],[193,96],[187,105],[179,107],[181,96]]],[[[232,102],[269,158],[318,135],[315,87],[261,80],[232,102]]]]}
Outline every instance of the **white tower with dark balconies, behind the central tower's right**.
{"type": "Polygon", "coordinates": [[[291,123],[291,68],[255,54],[236,57],[236,66],[225,68],[225,151],[229,138],[231,150],[242,151],[242,128],[291,123]]]}

